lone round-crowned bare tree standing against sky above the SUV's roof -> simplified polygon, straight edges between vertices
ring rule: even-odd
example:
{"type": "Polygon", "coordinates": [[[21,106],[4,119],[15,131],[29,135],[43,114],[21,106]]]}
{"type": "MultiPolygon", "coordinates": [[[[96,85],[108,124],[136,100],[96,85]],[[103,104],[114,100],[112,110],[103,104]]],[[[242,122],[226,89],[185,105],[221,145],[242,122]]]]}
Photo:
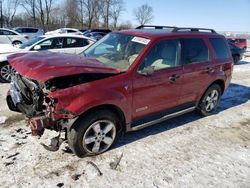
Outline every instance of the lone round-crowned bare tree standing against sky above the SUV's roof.
{"type": "Polygon", "coordinates": [[[134,10],[135,19],[140,25],[144,25],[153,21],[153,8],[144,4],[134,10]]]}

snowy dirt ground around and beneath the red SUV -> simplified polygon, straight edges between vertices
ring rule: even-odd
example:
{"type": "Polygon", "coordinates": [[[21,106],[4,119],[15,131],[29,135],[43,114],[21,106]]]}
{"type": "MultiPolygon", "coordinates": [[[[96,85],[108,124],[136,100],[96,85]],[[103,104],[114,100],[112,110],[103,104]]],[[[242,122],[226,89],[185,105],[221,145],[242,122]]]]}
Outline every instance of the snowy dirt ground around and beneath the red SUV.
{"type": "Polygon", "coordinates": [[[0,187],[250,187],[250,58],[234,67],[215,115],[195,112],[123,135],[96,157],[45,150],[5,103],[0,84],[0,187]],[[114,163],[118,162],[116,169],[114,163]],[[94,164],[94,165],[93,165],[94,164]],[[97,166],[97,168],[95,167],[97,166]]]}

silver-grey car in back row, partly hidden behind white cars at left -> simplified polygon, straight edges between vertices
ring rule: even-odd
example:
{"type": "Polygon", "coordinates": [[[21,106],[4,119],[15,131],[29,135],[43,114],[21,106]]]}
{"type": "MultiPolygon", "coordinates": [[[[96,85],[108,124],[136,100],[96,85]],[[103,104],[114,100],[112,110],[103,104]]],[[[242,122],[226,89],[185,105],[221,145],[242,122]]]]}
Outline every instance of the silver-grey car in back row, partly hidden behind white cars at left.
{"type": "Polygon", "coordinates": [[[34,27],[15,27],[13,30],[29,38],[38,37],[44,34],[43,29],[34,27]]]}

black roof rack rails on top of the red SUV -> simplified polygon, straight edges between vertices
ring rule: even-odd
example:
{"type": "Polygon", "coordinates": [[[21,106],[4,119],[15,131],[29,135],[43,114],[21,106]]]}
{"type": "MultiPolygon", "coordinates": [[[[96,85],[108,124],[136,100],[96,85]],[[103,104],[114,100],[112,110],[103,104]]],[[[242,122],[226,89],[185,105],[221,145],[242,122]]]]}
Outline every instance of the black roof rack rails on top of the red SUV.
{"type": "Polygon", "coordinates": [[[136,29],[153,28],[153,29],[173,29],[172,32],[211,32],[216,33],[213,29],[194,28],[194,27],[175,27],[175,26],[159,26],[159,25],[140,25],[136,29]]]}

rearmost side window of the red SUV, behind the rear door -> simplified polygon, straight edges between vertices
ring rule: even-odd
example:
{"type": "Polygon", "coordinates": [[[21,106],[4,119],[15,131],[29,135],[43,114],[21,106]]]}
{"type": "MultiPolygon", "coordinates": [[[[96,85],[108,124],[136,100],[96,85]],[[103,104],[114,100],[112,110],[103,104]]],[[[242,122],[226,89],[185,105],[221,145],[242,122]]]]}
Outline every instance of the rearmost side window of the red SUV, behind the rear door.
{"type": "Polygon", "coordinates": [[[210,38],[209,41],[213,46],[217,59],[230,58],[230,53],[225,40],[222,38],[210,38]]]}

